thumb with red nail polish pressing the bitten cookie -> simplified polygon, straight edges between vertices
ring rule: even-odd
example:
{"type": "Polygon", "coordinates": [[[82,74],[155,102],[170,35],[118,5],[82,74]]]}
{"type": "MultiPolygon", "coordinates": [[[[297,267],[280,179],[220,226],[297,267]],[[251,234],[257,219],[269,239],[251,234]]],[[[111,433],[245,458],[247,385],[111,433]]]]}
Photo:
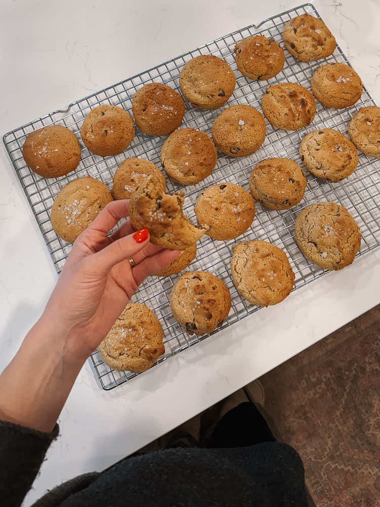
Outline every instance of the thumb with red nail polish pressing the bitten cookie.
{"type": "Polygon", "coordinates": [[[144,228],[114,241],[102,250],[94,253],[97,269],[101,272],[108,272],[115,264],[130,259],[137,252],[142,250],[149,241],[149,231],[144,228]]]}

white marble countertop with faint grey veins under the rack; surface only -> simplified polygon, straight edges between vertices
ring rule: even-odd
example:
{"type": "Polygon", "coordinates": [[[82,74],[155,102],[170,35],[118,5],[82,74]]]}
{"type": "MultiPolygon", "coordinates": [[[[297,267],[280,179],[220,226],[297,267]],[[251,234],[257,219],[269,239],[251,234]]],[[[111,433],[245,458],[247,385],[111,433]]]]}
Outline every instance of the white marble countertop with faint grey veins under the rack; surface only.
{"type": "MultiPolygon", "coordinates": [[[[0,132],[299,3],[0,0],[0,132]]],[[[380,103],[378,0],[315,7],[380,103]]],[[[57,275],[3,143],[0,173],[1,370],[57,275]]],[[[111,391],[98,387],[86,364],[60,416],[62,435],[24,504],[137,450],[379,303],[379,261],[380,248],[111,391]]]]}

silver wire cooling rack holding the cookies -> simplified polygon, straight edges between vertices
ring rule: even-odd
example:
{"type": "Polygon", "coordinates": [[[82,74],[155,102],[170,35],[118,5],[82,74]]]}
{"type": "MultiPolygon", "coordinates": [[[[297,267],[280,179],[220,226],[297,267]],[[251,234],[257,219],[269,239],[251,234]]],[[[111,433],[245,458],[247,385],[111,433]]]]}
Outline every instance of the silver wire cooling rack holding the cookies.
{"type": "MultiPolygon", "coordinates": [[[[294,16],[309,13],[320,18],[312,4],[305,4],[291,9],[282,14],[266,19],[258,25],[251,25],[225,35],[216,41],[190,51],[184,55],[168,60],[156,67],[145,70],[141,74],[126,79],[120,83],[109,86],[88,97],[71,103],[65,111],[54,111],[38,120],[32,121],[19,127],[4,136],[4,143],[9,157],[14,165],[21,186],[33,211],[37,224],[40,227],[46,245],[49,249],[52,261],[58,273],[60,273],[65,259],[71,249],[71,245],[57,237],[50,223],[50,209],[54,197],[71,180],[91,175],[100,179],[109,188],[112,186],[112,177],[118,166],[126,157],[143,157],[160,167],[160,150],[163,143],[161,137],[149,137],[137,131],[137,134],[126,152],[114,156],[102,158],[90,153],[82,147],[82,159],[73,173],[61,178],[45,179],[31,172],[22,157],[22,144],[25,136],[32,130],[44,125],[60,124],[71,129],[80,138],[79,131],[82,122],[91,108],[98,104],[120,105],[131,113],[131,101],[134,93],[144,83],[156,81],[171,86],[179,91],[178,76],[181,68],[191,58],[201,54],[213,54],[223,58],[235,71],[236,89],[233,96],[224,107],[232,104],[250,104],[261,110],[261,97],[265,89],[277,82],[292,81],[310,89],[310,79],[314,70],[324,63],[320,60],[310,63],[302,63],[294,59],[285,51],[286,60],[282,71],[268,81],[251,81],[240,74],[237,70],[234,57],[234,47],[240,40],[253,34],[263,34],[273,38],[282,45],[282,29],[284,23],[294,16]]],[[[346,56],[339,46],[333,55],[326,59],[329,62],[348,63],[346,56]]],[[[272,127],[267,122],[267,137],[262,147],[253,155],[245,158],[230,158],[218,153],[217,165],[213,173],[203,182],[190,187],[182,187],[173,184],[167,179],[169,192],[175,192],[182,188],[185,192],[184,211],[189,218],[195,220],[194,204],[199,192],[204,188],[219,182],[231,182],[249,189],[248,178],[251,169],[260,160],[269,157],[286,157],[300,164],[298,146],[300,140],[308,132],[318,128],[334,128],[347,134],[348,122],[359,107],[375,105],[367,90],[363,87],[361,99],[352,107],[345,110],[326,109],[317,102],[317,114],[313,123],[296,132],[286,132],[272,127]]],[[[205,131],[210,135],[212,122],[220,113],[219,110],[201,111],[193,109],[186,101],[186,111],[181,127],[193,127],[205,131]]],[[[132,114],[132,113],[131,113],[132,114]]],[[[232,250],[240,241],[262,239],[283,248],[289,258],[295,272],[294,289],[315,280],[326,273],[322,268],[309,262],[300,253],[294,239],[294,220],[299,211],[313,202],[328,200],[339,202],[345,206],[357,221],[362,242],[357,257],[371,250],[380,243],[380,159],[368,158],[359,153],[359,164],[356,171],[340,183],[328,183],[315,178],[307,173],[308,186],[301,203],[290,210],[271,211],[256,204],[256,216],[251,228],[242,236],[231,241],[213,241],[203,236],[198,244],[197,257],[189,267],[191,270],[206,270],[217,275],[226,283],[231,293],[231,311],[221,329],[237,322],[259,308],[245,301],[237,292],[230,272],[230,260],[232,250]]],[[[204,340],[209,335],[197,337],[188,335],[173,318],[169,307],[169,295],[173,284],[179,275],[166,278],[150,276],[142,283],[139,291],[132,301],[144,303],[155,311],[160,319],[164,330],[165,355],[159,358],[158,364],[168,357],[204,340]]],[[[216,333],[217,331],[215,331],[216,333]]],[[[103,389],[112,389],[117,385],[130,380],[136,374],[129,372],[112,371],[106,366],[98,352],[90,357],[91,365],[96,378],[103,389]]]]}

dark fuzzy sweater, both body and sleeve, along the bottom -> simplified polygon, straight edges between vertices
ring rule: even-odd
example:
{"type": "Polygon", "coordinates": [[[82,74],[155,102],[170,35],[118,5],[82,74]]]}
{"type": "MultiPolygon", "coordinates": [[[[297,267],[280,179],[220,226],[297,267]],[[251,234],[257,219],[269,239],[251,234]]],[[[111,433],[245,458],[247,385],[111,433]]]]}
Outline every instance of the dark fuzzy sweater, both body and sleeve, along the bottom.
{"type": "MultiPolygon", "coordinates": [[[[51,442],[57,438],[0,421],[0,503],[19,506],[51,442]]],[[[167,449],[125,458],[103,473],[85,474],[55,488],[35,507],[308,505],[303,465],[286,444],[235,449],[167,449]]]]}

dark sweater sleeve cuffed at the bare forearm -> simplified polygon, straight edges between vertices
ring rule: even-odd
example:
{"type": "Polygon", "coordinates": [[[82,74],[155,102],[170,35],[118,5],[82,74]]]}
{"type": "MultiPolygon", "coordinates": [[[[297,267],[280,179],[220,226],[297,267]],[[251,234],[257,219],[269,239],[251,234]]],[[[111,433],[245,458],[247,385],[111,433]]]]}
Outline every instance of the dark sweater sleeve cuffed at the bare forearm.
{"type": "Polygon", "coordinates": [[[0,503],[19,507],[31,488],[46,451],[58,436],[58,424],[51,433],[0,421],[0,503]]]}

